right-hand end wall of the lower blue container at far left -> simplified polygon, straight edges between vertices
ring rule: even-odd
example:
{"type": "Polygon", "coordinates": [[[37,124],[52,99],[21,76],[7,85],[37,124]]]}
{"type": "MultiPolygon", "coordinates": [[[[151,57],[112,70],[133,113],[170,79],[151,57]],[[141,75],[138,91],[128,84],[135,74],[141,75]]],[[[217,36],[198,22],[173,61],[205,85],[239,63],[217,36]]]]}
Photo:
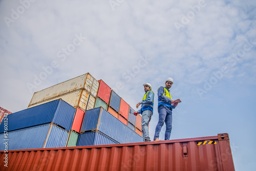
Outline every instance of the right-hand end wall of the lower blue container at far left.
{"type": "Polygon", "coordinates": [[[51,124],[50,133],[47,136],[44,148],[65,147],[68,141],[69,132],[51,124]]]}

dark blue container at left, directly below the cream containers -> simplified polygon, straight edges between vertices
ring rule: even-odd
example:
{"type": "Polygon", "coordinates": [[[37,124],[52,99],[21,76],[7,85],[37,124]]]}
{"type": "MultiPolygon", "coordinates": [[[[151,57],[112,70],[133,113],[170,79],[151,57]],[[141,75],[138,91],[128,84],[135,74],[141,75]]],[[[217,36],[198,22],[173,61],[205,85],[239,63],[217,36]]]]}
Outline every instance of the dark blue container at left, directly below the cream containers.
{"type": "MultiPolygon", "coordinates": [[[[58,99],[34,106],[8,115],[8,132],[46,123],[55,123],[70,131],[75,116],[75,108],[67,102],[58,99]]],[[[3,133],[4,122],[0,125],[3,133]]]]}

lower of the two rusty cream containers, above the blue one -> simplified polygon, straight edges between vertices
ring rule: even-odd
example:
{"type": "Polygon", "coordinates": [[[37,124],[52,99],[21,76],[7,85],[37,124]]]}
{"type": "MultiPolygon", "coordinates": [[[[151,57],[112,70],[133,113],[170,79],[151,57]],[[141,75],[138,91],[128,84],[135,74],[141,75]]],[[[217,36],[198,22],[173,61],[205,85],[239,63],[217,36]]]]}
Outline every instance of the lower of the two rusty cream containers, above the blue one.
{"type": "Polygon", "coordinates": [[[30,106],[28,106],[28,108],[32,108],[33,106],[37,106],[39,104],[44,104],[44,103],[61,98],[62,100],[66,101],[67,103],[72,105],[74,108],[81,108],[82,110],[85,111],[88,100],[89,100],[89,96],[90,96],[90,93],[88,93],[87,91],[84,91],[82,89],[79,89],[79,90],[67,93],[65,95],[61,95],[58,97],[54,97],[54,98],[30,105],[30,106]]]}

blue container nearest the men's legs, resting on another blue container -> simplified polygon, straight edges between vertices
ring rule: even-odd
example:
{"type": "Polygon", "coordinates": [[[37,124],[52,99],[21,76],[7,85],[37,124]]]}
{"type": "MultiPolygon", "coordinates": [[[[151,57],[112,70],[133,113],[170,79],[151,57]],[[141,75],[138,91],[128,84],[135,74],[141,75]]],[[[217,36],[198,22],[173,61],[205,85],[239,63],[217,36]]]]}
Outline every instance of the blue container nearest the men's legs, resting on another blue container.
{"type": "Polygon", "coordinates": [[[98,130],[119,143],[142,142],[142,137],[102,107],[86,111],[81,132],[98,130]]]}

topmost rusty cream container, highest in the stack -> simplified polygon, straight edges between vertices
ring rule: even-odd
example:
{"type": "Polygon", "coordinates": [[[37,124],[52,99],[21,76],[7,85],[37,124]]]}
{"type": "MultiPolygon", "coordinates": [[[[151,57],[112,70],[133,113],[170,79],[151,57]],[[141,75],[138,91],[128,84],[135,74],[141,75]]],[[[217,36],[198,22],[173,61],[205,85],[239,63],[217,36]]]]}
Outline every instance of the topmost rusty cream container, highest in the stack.
{"type": "Polygon", "coordinates": [[[70,80],[58,83],[47,89],[35,92],[29,105],[58,97],[60,95],[70,93],[75,90],[85,89],[91,91],[94,78],[89,74],[83,74],[70,80]]]}

